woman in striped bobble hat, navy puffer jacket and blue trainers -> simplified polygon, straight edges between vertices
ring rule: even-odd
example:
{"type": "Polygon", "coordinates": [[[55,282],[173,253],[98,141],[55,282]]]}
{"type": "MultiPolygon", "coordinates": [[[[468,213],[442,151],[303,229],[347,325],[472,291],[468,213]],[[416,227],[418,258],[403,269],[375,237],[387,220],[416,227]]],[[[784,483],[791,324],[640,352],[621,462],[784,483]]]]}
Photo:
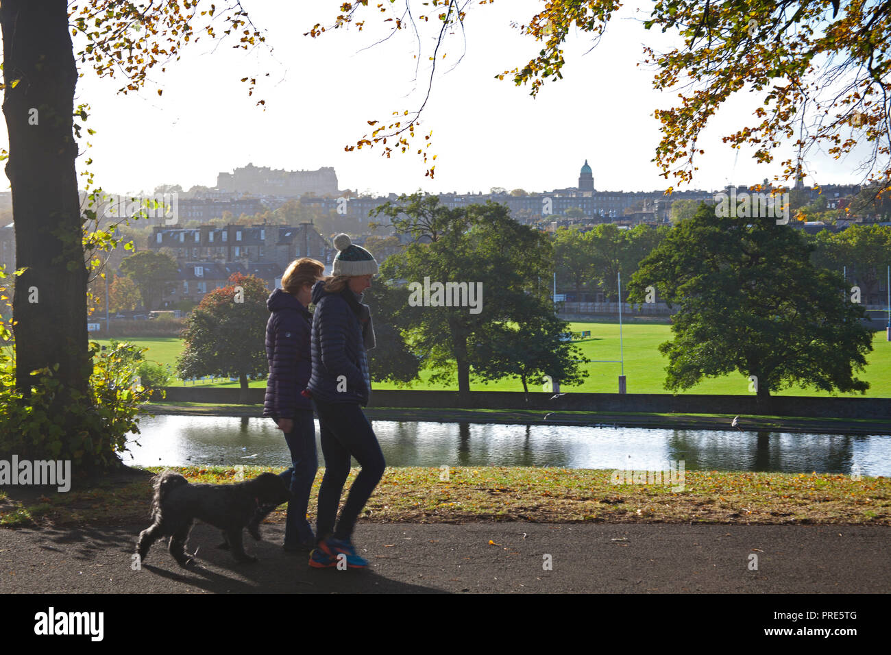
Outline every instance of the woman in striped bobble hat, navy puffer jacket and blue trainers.
{"type": "Polygon", "coordinates": [[[385,466],[372,424],[360,406],[368,405],[372,390],[365,353],[374,348],[371,311],[361,300],[363,291],[372,286],[372,276],[378,273],[378,263],[372,253],[356,246],[347,234],[334,237],[334,247],[339,252],[334,258],[333,274],[313,287],[313,369],[304,392],[312,397],[319,417],[325,458],[315,526],[316,547],[309,564],[316,568],[336,566],[342,553],[349,568],[364,569],[368,561],[356,554],[353,528],[385,466]],[[350,487],[335,527],[351,455],[362,470],[350,487]]]}

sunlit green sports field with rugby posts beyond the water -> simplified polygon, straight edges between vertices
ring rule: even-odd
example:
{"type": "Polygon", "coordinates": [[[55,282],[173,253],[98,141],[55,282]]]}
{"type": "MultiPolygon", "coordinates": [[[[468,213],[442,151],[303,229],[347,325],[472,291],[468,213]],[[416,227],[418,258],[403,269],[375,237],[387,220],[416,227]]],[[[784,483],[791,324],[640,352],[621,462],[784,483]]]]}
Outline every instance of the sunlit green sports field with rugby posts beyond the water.
{"type": "MultiPolygon", "coordinates": [[[[619,339],[617,323],[570,323],[573,332],[591,331],[591,337],[576,341],[585,356],[590,359],[618,359],[619,339]]],[[[625,377],[628,393],[666,393],[665,382],[666,358],[658,352],[658,345],[671,338],[670,326],[662,324],[641,323],[625,324],[622,327],[625,350],[625,377]]],[[[174,366],[176,356],[182,351],[183,342],[176,338],[133,339],[135,344],[148,348],[147,359],[174,366]]],[[[107,340],[100,340],[107,343],[107,340]]],[[[876,332],[873,350],[867,356],[867,365],[861,377],[870,382],[867,397],[891,397],[891,343],[887,342],[885,332],[876,332]]],[[[616,393],[618,391],[618,375],[620,364],[592,363],[587,365],[588,377],[577,387],[562,387],[560,390],[616,393]]],[[[421,381],[412,389],[457,389],[457,383],[451,387],[431,386],[428,383],[429,373],[421,372],[421,381]]],[[[176,381],[174,384],[183,384],[176,381]]],[[[192,386],[192,382],[186,383],[192,386]]],[[[238,386],[237,382],[208,381],[196,382],[195,386],[238,386]]],[[[265,387],[265,381],[252,381],[251,387],[265,387]]],[[[397,389],[396,385],[376,382],[374,389],[397,389]]],[[[475,391],[522,391],[519,380],[502,380],[490,384],[474,383],[470,389],[475,391]]],[[[544,390],[541,386],[530,387],[530,390],[544,390]]],[[[550,390],[550,389],[547,389],[550,390]]],[[[698,386],[687,389],[685,393],[701,394],[748,394],[748,379],[735,373],[722,378],[703,381],[698,386]]],[[[829,396],[813,389],[786,389],[779,395],[789,396],[829,396]]],[[[858,396],[858,394],[839,394],[839,396],[858,396]]]]}

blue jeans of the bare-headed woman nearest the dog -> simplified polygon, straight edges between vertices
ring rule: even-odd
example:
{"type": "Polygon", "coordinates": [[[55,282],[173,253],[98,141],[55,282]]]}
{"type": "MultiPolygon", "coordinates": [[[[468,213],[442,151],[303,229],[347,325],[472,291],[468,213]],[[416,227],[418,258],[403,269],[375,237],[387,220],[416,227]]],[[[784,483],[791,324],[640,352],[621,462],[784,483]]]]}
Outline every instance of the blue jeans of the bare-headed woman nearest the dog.
{"type": "Polygon", "coordinates": [[[288,516],[284,527],[285,547],[298,544],[312,544],[315,541],[313,528],[307,521],[309,492],[318,470],[318,457],[315,453],[315,423],[313,410],[298,409],[294,413],[294,428],[284,436],[290,450],[290,468],[279,476],[290,488],[288,516]]]}

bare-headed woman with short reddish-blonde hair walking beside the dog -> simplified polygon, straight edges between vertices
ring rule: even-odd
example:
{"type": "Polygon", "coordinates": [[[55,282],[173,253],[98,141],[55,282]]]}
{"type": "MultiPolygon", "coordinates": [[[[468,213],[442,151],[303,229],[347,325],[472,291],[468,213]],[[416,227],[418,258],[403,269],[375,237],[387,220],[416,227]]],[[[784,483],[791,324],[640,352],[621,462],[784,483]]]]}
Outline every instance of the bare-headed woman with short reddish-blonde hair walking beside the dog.
{"type": "MultiPolygon", "coordinates": [[[[266,300],[272,315],[266,323],[269,379],[263,415],[271,417],[284,432],[290,450],[290,469],[280,474],[291,492],[284,531],[284,549],[290,553],[307,551],[315,545],[313,528],[307,521],[309,492],[318,469],[315,423],[313,405],[301,392],[307,388],[312,366],[312,316],[307,307],[313,284],[322,277],[324,268],[322,262],[310,258],[291,262],[282,275],[282,289],[273,291],[266,300]]],[[[259,536],[259,522],[273,510],[269,506],[259,508],[249,525],[251,534],[259,536]]]]}

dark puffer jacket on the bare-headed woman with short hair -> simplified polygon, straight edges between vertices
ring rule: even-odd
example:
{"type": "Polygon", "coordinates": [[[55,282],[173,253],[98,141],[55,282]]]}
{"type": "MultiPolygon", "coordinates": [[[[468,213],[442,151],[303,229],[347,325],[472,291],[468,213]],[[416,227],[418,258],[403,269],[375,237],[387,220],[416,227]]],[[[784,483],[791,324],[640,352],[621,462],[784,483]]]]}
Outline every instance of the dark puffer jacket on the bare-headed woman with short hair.
{"type": "Polygon", "coordinates": [[[266,381],[263,415],[292,419],[296,410],[313,408],[309,398],[300,393],[309,381],[312,315],[298,299],[281,289],[269,295],[266,308],[272,315],[266,322],[269,379],[266,381]]]}

